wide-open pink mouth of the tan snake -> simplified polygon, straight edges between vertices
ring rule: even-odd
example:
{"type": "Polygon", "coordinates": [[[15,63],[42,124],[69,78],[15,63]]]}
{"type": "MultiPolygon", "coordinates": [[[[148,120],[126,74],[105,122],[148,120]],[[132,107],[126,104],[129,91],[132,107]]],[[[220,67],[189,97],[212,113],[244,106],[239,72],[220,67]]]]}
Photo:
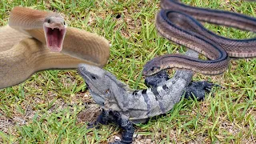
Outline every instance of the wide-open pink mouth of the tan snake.
{"type": "Polygon", "coordinates": [[[43,29],[46,37],[46,46],[51,51],[62,51],[62,44],[66,34],[66,27],[58,29],[43,26],[43,29]]]}

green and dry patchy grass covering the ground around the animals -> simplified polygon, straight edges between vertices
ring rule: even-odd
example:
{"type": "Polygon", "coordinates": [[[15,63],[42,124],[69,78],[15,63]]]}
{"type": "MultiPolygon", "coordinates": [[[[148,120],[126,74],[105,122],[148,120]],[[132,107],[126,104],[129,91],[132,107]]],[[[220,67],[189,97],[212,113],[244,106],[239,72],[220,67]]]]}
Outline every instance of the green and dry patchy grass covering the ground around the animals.
{"type": "MultiPolygon", "coordinates": [[[[256,3],[226,0],[184,0],[191,6],[231,10],[256,16],[256,3]]],[[[69,26],[110,40],[105,69],[131,88],[146,88],[142,66],[156,55],[183,53],[185,48],[161,38],[154,29],[159,1],[7,1],[0,3],[0,25],[7,24],[14,6],[57,10],[69,26]],[[117,18],[117,16],[121,16],[117,18]]],[[[229,38],[255,34],[224,26],[205,26],[229,38]]],[[[166,116],[136,126],[134,143],[251,143],[256,142],[256,59],[230,62],[218,76],[195,74],[225,89],[215,89],[204,102],[183,100],[166,116]]],[[[76,70],[46,70],[26,82],[0,90],[0,138],[5,143],[106,143],[121,133],[117,126],[86,130],[98,114],[76,70]],[[86,96],[85,96],[86,94],[86,96]]]]}

